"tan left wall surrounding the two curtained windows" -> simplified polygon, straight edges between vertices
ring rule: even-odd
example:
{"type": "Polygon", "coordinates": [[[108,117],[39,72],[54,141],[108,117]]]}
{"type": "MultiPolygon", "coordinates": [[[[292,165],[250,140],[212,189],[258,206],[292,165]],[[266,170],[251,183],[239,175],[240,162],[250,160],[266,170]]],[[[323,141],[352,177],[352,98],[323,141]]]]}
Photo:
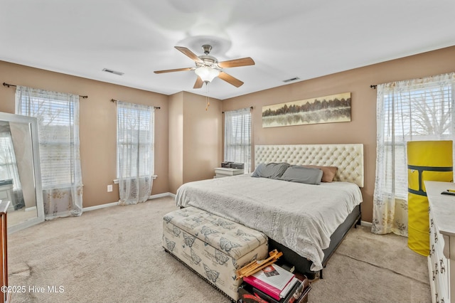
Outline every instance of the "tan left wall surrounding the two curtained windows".
{"type": "MultiPolygon", "coordinates": [[[[80,99],[83,206],[119,200],[116,179],[116,106],[111,99],[161,107],[155,112],[155,174],[152,194],[168,192],[168,96],[0,61],[0,82],[88,95],[80,99]]],[[[14,113],[14,87],[0,87],[0,111],[14,113]]]]}

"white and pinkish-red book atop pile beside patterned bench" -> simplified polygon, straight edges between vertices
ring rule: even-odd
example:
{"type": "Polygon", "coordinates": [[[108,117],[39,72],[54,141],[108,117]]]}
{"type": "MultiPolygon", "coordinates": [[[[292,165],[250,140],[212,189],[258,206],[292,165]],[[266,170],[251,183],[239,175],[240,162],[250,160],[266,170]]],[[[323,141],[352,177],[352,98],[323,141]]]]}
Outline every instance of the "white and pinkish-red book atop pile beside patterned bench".
{"type": "Polygon", "coordinates": [[[293,273],[274,264],[264,267],[253,275],[243,277],[243,281],[279,301],[286,297],[290,288],[294,286],[294,284],[289,285],[294,277],[293,273]]]}

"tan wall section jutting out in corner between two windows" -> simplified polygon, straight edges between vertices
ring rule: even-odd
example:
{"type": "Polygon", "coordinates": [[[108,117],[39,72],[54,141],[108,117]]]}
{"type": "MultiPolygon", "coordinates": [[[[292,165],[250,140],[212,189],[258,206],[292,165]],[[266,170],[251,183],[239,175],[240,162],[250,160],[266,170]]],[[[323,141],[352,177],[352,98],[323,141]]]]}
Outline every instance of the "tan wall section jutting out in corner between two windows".
{"type": "Polygon", "coordinates": [[[169,191],[183,183],[211,179],[220,165],[221,101],[190,92],[169,97],[169,191]]]}

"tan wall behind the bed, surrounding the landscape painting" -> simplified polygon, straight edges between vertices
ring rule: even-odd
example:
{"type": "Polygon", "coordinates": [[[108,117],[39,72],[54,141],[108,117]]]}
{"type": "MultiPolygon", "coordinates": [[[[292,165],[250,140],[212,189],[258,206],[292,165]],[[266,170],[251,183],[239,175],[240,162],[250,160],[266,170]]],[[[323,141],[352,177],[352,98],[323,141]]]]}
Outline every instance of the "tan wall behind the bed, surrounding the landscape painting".
{"type": "Polygon", "coordinates": [[[362,219],[373,218],[376,160],[376,90],[370,85],[455,71],[455,47],[348,70],[223,100],[223,110],[253,106],[253,144],[362,143],[365,186],[362,219]],[[262,106],[351,92],[351,122],[262,128],[262,106]]]}

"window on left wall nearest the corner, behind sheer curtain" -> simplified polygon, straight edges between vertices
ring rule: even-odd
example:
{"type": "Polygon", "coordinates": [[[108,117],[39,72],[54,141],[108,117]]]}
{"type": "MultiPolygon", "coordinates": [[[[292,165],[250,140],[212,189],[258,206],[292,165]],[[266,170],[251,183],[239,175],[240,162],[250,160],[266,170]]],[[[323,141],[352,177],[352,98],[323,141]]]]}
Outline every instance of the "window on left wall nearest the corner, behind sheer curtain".
{"type": "Polygon", "coordinates": [[[117,101],[117,177],[154,174],[154,107],[117,101]]]}

